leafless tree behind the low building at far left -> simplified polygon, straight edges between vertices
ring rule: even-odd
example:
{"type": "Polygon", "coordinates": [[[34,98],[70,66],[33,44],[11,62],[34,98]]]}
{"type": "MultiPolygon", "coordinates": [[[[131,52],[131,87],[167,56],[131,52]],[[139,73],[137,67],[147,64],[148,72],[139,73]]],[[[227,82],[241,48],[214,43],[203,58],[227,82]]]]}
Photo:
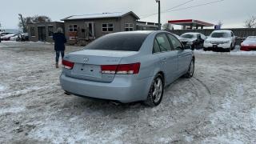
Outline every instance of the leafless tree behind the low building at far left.
{"type": "MultiPolygon", "coordinates": [[[[51,19],[45,15],[34,15],[33,17],[23,18],[23,21],[27,30],[29,23],[51,22],[51,19]]],[[[20,17],[18,18],[18,27],[23,29],[22,18],[20,17]]]]}

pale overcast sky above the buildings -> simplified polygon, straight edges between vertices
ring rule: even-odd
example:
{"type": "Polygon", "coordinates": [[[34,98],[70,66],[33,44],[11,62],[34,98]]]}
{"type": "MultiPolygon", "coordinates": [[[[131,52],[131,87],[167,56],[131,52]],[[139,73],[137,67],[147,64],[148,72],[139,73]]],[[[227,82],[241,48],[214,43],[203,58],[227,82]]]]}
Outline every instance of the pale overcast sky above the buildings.
{"type": "MultiPolygon", "coordinates": [[[[35,14],[49,16],[52,21],[60,21],[75,14],[98,14],[106,12],[134,11],[140,18],[158,12],[155,0],[7,0],[0,2],[0,22],[2,28],[18,28],[18,14],[24,17],[35,14]]],[[[189,0],[161,0],[162,10],[170,9],[189,0]]],[[[196,6],[216,0],[194,0],[184,6],[196,6]]],[[[193,18],[217,24],[225,28],[243,27],[246,19],[256,15],[256,0],[224,0],[207,6],[162,14],[162,23],[168,20],[193,18]]],[[[178,9],[177,8],[177,9],[178,9]]],[[[141,21],[157,22],[158,15],[142,18],[141,21]]]]}

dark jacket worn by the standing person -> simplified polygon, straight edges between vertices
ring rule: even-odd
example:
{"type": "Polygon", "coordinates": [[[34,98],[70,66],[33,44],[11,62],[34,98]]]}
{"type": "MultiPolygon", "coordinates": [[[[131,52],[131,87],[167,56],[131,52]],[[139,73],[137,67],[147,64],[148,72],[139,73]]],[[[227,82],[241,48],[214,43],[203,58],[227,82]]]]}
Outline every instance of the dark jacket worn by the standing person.
{"type": "Polygon", "coordinates": [[[65,35],[62,33],[54,33],[54,50],[55,51],[61,51],[65,50],[65,43],[66,43],[66,38],[65,35]]]}

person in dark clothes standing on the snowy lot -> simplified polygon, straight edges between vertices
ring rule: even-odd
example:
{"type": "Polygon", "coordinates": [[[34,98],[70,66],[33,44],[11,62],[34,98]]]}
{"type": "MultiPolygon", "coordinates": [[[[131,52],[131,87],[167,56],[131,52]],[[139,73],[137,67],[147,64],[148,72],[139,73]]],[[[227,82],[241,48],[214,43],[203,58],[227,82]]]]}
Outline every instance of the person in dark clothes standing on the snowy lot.
{"type": "Polygon", "coordinates": [[[61,27],[58,27],[57,32],[54,33],[54,50],[56,53],[56,68],[58,68],[58,59],[59,55],[62,54],[62,58],[64,57],[65,53],[65,43],[66,43],[66,37],[63,34],[63,30],[61,27]]]}

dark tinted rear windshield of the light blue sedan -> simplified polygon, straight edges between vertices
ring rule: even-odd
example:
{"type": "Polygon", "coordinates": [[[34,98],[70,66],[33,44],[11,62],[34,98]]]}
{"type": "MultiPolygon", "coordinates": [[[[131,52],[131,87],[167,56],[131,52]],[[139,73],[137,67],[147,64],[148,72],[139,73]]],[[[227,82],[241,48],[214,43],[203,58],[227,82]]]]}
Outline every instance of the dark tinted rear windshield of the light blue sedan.
{"type": "Polygon", "coordinates": [[[98,38],[86,50],[138,51],[148,34],[109,34],[98,38]]]}

